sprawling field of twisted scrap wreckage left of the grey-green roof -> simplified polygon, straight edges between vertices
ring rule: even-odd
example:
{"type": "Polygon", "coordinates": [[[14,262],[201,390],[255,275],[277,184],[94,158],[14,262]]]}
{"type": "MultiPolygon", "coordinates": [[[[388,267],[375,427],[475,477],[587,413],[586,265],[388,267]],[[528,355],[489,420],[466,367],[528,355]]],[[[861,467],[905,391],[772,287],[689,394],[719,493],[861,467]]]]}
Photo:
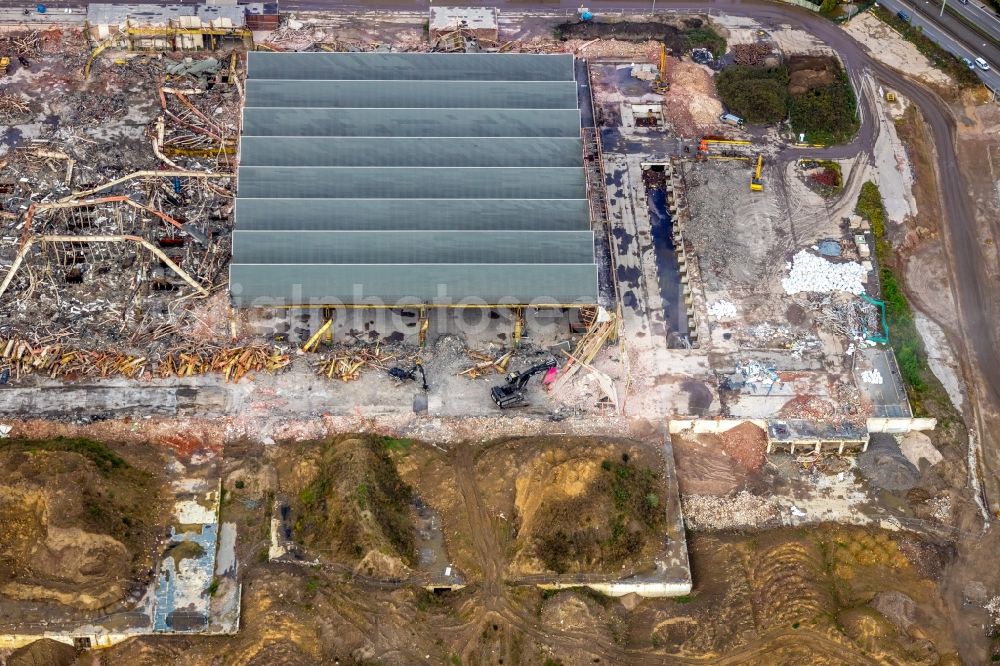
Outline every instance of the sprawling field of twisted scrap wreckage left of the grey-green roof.
{"type": "MultiPolygon", "coordinates": [[[[222,338],[225,316],[204,311],[231,254],[241,59],[123,54],[84,88],[80,35],[17,39],[54,83],[5,80],[29,110],[0,155],[0,336],[114,350],[123,376],[196,328],[222,338]]],[[[103,376],[93,354],[80,363],[103,376]]]]}

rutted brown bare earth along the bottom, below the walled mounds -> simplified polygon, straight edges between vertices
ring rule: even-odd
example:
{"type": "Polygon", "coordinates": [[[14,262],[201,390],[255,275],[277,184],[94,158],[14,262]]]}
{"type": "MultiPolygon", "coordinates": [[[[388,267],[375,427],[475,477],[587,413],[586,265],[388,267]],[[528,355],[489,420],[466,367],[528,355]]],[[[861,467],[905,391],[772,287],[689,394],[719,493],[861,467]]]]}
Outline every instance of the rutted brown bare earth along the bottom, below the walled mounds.
{"type": "Polygon", "coordinates": [[[496,610],[489,586],[440,596],[252,564],[239,635],[132,640],[80,663],[959,663],[934,546],[824,527],[697,536],[691,549],[691,599],[503,588],[496,610]]]}

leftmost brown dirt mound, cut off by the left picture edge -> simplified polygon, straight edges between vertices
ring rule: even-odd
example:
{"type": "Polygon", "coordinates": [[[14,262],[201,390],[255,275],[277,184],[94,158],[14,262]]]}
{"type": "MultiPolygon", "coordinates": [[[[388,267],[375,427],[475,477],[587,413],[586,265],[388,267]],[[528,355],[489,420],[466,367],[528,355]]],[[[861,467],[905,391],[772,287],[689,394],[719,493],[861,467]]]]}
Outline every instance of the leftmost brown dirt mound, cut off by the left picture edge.
{"type": "Polygon", "coordinates": [[[97,609],[152,566],[160,481],[78,439],[0,444],[0,593],[97,609]]]}

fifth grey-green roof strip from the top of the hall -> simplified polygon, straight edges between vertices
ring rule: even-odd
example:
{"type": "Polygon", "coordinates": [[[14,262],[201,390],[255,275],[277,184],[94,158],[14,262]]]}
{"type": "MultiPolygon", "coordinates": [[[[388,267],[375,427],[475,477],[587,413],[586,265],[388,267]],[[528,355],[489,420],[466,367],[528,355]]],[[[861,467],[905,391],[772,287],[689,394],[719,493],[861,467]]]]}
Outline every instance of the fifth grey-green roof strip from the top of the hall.
{"type": "Polygon", "coordinates": [[[240,167],[240,196],[270,199],[584,199],[579,168],[240,167]]]}

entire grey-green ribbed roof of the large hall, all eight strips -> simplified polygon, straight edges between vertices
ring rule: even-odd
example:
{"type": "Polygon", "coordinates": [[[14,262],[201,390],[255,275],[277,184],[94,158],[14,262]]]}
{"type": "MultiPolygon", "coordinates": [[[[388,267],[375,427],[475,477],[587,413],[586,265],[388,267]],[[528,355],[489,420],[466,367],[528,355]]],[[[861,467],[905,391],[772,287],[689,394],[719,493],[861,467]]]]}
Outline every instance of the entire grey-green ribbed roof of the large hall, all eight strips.
{"type": "Polygon", "coordinates": [[[237,306],[597,302],[572,56],[248,57],[237,306]]]}

